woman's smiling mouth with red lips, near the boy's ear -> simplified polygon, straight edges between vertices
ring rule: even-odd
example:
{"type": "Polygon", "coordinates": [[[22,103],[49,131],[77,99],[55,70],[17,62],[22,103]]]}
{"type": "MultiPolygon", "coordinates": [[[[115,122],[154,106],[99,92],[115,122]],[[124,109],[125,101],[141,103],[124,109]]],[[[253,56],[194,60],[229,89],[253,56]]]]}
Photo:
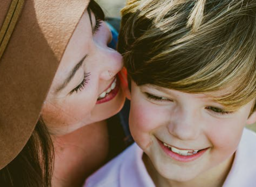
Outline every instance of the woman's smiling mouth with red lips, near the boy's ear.
{"type": "Polygon", "coordinates": [[[119,80],[117,77],[113,80],[113,82],[109,85],[109,87],[106,88],[106,90],[100,94],[96,104],[104,103],[107,101],[112,100],[118,93],[119,91],[119,80]]]}

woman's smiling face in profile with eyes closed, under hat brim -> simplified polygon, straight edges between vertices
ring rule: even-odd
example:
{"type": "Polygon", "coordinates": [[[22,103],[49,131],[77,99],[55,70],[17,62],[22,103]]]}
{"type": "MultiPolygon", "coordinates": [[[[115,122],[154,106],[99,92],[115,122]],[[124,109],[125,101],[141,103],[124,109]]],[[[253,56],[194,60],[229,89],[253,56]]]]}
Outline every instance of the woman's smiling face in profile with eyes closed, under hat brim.
{"type": "Polygon", "coordinates": [[[111,38],[106,24],[85,11],[43,106],[42,117],[52,134],[68,134],[122,108],[125,96],[117,76],[122,56],[107,47],[111,38]]]}

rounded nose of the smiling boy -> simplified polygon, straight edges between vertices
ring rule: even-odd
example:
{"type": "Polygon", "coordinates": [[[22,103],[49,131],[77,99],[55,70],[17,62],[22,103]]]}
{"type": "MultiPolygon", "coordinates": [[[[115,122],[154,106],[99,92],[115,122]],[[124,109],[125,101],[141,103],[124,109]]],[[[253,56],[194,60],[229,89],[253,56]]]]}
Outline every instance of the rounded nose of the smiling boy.
{"type": "Polygon", "coordinates": [[[169,133],[179,140],[196,140],[200,134],[200,120],[196,113],[186,109],[177,110],[168,124],[169,133]]]}

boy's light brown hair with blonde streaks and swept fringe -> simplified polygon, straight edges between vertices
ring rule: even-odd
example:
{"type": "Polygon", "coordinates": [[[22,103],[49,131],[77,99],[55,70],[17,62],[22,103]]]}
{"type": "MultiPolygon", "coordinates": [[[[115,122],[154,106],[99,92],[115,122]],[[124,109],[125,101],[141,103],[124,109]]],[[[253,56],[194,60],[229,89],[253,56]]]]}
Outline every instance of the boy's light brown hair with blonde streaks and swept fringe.
{"type": "Polygon", "coordinates": [[[133,0],[122,16],[118,50],[137,85],[224,91],[214,100],[230,111],[256,98],[255,0],[133,0]]]}

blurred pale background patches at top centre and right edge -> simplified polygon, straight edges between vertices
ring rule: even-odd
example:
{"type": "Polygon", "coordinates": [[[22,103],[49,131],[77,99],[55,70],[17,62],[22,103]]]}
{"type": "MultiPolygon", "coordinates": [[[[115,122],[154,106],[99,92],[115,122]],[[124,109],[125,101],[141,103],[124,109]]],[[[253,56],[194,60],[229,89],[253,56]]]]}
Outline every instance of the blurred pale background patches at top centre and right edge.
{"type": "MultiPolygon", "coordinates": [[[[99,5],[102,7],[107,17],[120,17],[120,10],[124,7],[126,1],[125,0],[111,0],[111,1],[96,0],[96,2],[98,2],[99,5]]],[[[256,123],[253,125],[247,126],[247,128],[256,131],[256,123]]]]}

